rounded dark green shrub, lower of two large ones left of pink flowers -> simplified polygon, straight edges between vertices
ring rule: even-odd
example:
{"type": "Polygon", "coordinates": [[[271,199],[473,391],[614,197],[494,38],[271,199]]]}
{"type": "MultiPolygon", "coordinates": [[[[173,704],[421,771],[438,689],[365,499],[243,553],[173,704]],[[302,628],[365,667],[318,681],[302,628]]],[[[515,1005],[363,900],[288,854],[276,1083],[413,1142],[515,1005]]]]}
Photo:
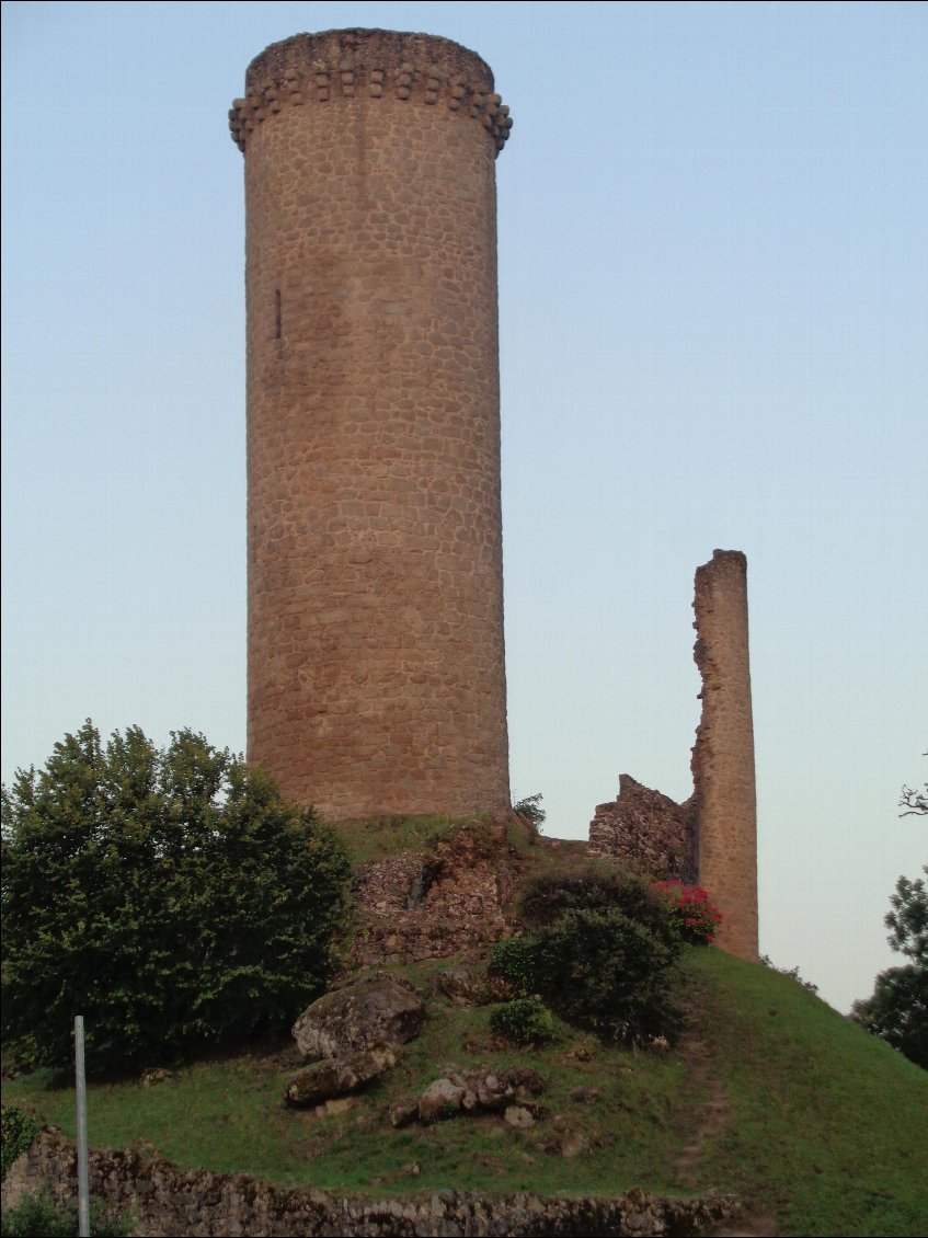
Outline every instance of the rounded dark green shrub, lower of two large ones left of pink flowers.
{"type": "Polygon", "coordinates": [[[627,1044],[674,1039],[672,936],[668,943],[619,907],[577,907],[538,930],[535,941],[544,961],[537,992],[569,1023],[627,1044]]]}

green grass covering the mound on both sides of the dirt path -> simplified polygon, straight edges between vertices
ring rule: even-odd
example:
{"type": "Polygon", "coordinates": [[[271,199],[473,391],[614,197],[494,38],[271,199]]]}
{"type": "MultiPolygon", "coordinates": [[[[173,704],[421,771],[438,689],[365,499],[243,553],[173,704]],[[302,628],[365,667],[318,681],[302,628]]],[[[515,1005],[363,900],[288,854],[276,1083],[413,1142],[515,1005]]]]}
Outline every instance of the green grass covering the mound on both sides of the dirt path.
{"type": "MultiPolygon", "coordinates": [[[[442,966],[398,971],[429,985],[442,966]]],[[[551,1045],[501,1050],[489,1032],[490,1008],[459,1009],[431,997],[422,1036],[346,1113],[285,1108],[283,1088],[298,1062],[294,1050],[278,1047],[187,1066],[150,1088],[92,1084],[90,1141],[122,1148],[145,1140],[184,1169],[359,1193],[716,1188],[773,1212],[781,1234],[923,1233],[928,1073],[768,968],[697,948],[687,951],[683,968],[709,1052],[698,1086],[681,1052],[606,1049],[563,1024],[551,1045]],[[450,1062],[462,1070],[535,1067],[549,1081],[544,1115],[527,1130],[497,1115],[395,1130],[390,1104],[417,1096],[450,1062]],[[700,1129],[714,1083],[728,1101],[728,1125],[704,1141],[689,1177],[678,1158],[700,1129]],[[599,1089],[599,1099],[573,1099],[578,1087],[599,1089]],[[564,1125],[590,1141],[573,1159],[553,1148],[564,1125]]],[[[73,1092],[47,1076],[5,1083],[4,1101],[74,1134],[73,1092]]]]}

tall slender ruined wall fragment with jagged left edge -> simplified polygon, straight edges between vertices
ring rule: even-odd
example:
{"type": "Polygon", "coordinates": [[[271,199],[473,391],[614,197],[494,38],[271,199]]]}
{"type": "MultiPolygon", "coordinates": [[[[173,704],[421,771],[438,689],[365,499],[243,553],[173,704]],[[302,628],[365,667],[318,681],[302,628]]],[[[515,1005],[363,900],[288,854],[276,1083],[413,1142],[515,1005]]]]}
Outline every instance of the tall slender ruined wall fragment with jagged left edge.
{"type": "Polygon", "coordinates": [[[695,573],[693,656],[703,677],[703,714],[693,748],[699,883],[723,914],[718,945],[757,959],[757,808],[747,560],[713,552],[695,573]]]}

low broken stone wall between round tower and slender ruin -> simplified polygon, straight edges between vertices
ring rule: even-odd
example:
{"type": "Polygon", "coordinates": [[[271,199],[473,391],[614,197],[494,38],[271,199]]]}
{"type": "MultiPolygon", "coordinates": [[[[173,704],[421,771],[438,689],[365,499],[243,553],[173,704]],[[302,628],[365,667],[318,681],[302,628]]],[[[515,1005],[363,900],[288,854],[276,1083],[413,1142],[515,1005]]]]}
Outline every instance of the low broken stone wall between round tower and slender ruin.
{"type": "Polygon", "coordinates": [[[641,869],[657,881],[695,881],[690,805],[677,803],[634,777],[619,777],[619,799],[596,806],[589,854],[641,869]]]}

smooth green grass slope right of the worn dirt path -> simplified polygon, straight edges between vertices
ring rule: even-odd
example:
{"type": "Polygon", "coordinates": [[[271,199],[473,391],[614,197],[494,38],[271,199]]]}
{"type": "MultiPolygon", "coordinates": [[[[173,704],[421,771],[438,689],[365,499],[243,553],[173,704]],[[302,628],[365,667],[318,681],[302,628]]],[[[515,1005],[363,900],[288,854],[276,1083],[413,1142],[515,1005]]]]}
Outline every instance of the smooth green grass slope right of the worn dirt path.
{"type": "Polygon", "coordinates": [[[923,1233],[928,1073],[787,977],[718,951],[688,964],[731,1107],[699,1185],[754,1195],[783,1233],[923,1233]]]}

